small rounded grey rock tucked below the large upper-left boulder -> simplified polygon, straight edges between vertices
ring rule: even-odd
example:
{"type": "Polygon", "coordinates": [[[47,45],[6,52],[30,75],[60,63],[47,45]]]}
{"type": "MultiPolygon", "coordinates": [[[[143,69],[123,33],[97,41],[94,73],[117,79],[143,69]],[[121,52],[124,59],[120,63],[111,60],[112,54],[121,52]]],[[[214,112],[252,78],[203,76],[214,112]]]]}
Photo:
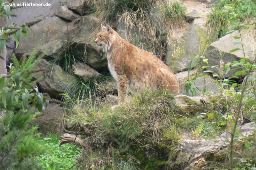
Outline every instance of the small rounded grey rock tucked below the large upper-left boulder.
{"type": "Polygon", "coordinates": [[[45,55],[51,56],[52,58],[58,59],[63,53],[64,43],[62,41],[50,41],[43,44],[39,48],[39,52],[44,53],[45,55]]]}

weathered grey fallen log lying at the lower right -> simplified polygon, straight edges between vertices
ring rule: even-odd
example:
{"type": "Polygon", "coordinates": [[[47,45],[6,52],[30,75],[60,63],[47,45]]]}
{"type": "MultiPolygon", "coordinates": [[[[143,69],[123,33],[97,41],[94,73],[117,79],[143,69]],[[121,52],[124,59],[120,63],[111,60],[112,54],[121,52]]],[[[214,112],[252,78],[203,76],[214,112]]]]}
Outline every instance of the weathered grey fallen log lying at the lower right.
{"type": "MultiPolygon", "coordinates": [[[[244,137],[251,136],[256,130],[254,122],[246,123],[240,127],[244,137]]],[[[241,141],[242,137],[239,136],[241,141]]],[[[175,161],[171,163],[171,169],[181,168],[185,170],[196,169],[195,165],[202,164],[211,153],[218,153],[220,150],[225,149],[229,145],[230,133],[224,132],[219,137],[214,139],[183,139],[179,146],[179,154],[175,161]]],[[[217,155],[216,155],[217,156],[217,155]]]]}

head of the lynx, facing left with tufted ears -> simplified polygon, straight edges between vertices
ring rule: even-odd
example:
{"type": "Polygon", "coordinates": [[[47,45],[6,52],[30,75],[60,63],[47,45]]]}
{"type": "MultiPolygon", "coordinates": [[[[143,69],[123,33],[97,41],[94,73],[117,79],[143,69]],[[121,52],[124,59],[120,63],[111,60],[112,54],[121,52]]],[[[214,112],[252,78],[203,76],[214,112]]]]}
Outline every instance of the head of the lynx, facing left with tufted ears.
{"type": "Polygon", "coordinates": [[[110,26],[103,26],[101,24],[101,30],[97,34],[95,43],[98,46],[102,46],[103,49],[105,49],[105,52],[107,52],[110,49],[113,41],[116,40],[116,36],[114,35],[115,33],[116,32],[110,26]]]}

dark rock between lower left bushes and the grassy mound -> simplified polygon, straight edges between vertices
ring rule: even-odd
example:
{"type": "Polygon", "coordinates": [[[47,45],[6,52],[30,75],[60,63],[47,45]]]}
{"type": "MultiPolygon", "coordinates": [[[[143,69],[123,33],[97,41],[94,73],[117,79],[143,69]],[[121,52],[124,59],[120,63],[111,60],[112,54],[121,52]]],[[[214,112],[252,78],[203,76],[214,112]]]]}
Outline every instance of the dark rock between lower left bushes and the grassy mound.
{"type": "Polygon", "coordinates": [[[38,131],[43,135],[47,135],[47,133],[56,134],[60,132],[60,116],[63,111],[64,109],[58,104],[50,102],[30,123],[38,125],[38,131]]]}

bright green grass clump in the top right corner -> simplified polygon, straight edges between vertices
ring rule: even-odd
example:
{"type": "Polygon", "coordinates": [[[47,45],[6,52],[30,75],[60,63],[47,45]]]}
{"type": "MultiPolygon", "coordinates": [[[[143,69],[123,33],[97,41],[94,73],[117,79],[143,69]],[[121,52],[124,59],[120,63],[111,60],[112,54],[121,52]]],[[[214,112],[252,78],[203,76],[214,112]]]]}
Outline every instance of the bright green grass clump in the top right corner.
{"type": "Polygon", "coordinates": [[[210,38],[220,38],[231,29],[230,20],[248,21],[256,16],[256,2],[253,0],[220,0],[216,1],[208,15],[207,24],[211,29],[210,38]]]}

